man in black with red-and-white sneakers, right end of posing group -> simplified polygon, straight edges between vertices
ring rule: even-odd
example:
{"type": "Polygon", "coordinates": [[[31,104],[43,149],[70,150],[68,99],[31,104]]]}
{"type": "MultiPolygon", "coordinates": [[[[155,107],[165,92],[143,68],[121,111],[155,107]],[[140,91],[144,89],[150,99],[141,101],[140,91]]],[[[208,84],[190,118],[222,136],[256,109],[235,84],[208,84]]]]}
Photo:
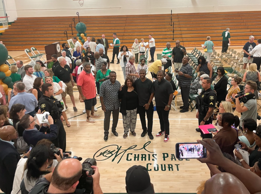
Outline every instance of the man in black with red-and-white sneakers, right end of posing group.
{"type": "Polygon", "coordinates": [[[154,81],[155,90],[155,102],[156,110],[160,119],[160,132],[156,134],[156,137],[160,137],[165,134],[164,142],[168,142],[169,139],[169,121],[168,114],[173,99],[173,89],[169,81],[164,79],[164,71],[159,70],[157,72],[157,80],[154,81]]]}

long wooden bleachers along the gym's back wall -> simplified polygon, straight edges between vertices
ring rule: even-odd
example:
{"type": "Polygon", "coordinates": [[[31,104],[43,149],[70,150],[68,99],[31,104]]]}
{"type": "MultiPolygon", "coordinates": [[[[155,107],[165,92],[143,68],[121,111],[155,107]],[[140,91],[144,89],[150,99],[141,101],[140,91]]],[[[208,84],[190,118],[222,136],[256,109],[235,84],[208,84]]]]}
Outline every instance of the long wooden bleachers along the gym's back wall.
{"type": "MultiPolygon", "coordinates": [[[[77,24],[78,17],[74,18],[77,24]]],[[[155,38],[157,48],[164,48],[167,42],[171,42],[173,47],[176,40],[186,47],[199,47],[207,36],[211,37],[215,46],[221,46],[221,34],[226,28],[230,28],[231,46],[244,45],[250,35],[255,39],[261,38],[261,11],[172,14],[174,40],[171,14],[81,16],[80,21],[87,26],[87,36],[97,39],[104,34],[112,43],[112,34],[116,32],[121,45],[128,47],[132,46],[135,38],[139,42],[141,38],[148,41],[149,34],[155,38]]],[[[66,42],[65,30],[68,39],[76,37],[73,17],[17,18],[0,39],[8,50],[24,50],[32,46],[44,50],[44,46],[50,43],[66,42]],[[73,25],[73,35],[69,24],[73,25]]]]}

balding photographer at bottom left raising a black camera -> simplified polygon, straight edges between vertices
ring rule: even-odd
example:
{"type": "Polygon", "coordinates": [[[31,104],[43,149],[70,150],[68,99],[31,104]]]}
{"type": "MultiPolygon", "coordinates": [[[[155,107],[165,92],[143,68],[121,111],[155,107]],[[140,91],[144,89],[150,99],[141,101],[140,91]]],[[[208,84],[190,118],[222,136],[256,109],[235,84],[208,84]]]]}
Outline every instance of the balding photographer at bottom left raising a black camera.
{"type": "MultiPolygon", "coordinates": [[[[99,184],[100,173],[97,166],[94,169],[93,193],[103,194],[99,184]]],[[[88,172],[86,173],[88,175],[88,172]]],[[[64,159],[58,163],[52,173],[39,179],[30,191],[30,194],[55,194],[55,193],[75,193],[82,175],[82,165],[77,159],[64,159]]]]}

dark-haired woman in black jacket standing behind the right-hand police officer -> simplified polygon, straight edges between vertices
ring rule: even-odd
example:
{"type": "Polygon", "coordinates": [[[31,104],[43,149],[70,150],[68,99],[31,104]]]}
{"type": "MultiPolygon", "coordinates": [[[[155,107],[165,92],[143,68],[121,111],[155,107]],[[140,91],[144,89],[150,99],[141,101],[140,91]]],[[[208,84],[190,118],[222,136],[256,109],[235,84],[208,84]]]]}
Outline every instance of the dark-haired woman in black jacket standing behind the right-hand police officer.
{"type": "Polygon", "coordinates": [[[225,76],[225,69],[224,67],[219,67],[217,69],[217,75],[215,75],[212,79],[212,85],[214,86],[214,91],[217,93],[217,102],[216,107],[213,112],[213,117],[216,120],[217,115],[219,113],[219,105],[221,101],[226,100],[227,95],[227,78],[225,76]]]}

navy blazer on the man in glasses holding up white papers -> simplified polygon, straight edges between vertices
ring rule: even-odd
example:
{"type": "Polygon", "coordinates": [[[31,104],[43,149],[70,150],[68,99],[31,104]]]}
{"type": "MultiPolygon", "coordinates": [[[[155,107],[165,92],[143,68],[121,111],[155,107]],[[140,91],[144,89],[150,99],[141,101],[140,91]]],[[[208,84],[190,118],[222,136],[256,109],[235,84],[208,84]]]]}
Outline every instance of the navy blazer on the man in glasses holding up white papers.
{"type": "Polygon", "coordinates": [[[58,126],[53,124],[50,125],[50,133],[45,134],[41,131],[44,130],[46,127],[42,126],[40,130],[24,130],[23,131],[23,139],[28,145],[36,146],[37,142],[39,142],[42,139],[49,139],[50,141],[57,138],[57,132],[58,132],[58,126]]]}

